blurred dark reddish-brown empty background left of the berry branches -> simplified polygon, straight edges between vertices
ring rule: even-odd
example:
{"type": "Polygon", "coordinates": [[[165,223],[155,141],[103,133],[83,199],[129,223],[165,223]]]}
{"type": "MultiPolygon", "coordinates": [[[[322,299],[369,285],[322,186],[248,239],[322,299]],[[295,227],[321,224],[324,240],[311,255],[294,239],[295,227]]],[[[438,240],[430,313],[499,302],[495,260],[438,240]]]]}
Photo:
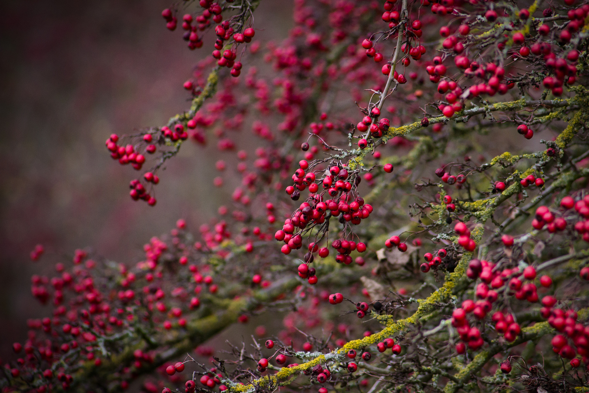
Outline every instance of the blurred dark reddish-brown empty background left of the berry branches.
{"type": "MultiPolygon", "coordinates": [[[[196,229],[230,196],[212,186],[216,149],[186,143],[161,176],[157,205],[133,202],[135,171],[104,147],[111,133],[160,126],[188,105],[182,85],[209,51],[188,50],[181,29],[166,29],[161,10],[170,5],[0,4],[2,359],[12,342],[26,339],[27,319],[48,313],[32,298],[32,274],[54,272],[56,262],[87,246],[130,265],[151,236],[180,217],[196,229]],[[38,243],[45,255],[31,262],[38,243]]],[[[289,0],[262,1],[256,38],[286,37],[292,9],[289,0]]]]}

